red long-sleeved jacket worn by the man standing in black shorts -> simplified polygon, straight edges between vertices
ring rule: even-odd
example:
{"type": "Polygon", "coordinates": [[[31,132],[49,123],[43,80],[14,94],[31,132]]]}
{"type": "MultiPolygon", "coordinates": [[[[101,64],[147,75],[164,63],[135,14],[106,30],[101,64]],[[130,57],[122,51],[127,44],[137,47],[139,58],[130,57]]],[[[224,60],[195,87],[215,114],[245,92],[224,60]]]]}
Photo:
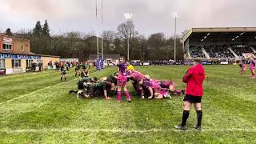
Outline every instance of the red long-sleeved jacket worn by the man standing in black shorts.
{"type": "Polygon", "coordinates": [[[202,97],[202,82],[205,79],[205,70],[201,64],[192,66],[183,77],[186,85],[186,94],[202,97]]]}

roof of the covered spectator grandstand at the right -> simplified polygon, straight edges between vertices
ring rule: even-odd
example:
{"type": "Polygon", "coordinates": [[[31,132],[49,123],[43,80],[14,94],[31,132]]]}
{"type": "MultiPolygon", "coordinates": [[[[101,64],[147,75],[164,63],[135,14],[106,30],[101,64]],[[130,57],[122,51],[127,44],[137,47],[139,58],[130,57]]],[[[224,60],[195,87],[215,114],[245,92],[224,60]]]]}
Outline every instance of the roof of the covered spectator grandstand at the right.
{"type": "Polygon", "coordinates": [[[225,37],[236,37],[238,34],[245,33],[248,37],[255,38],[256,36],[256,27],[209,27],[209,28],[192,28],[190,29],[183,37],[183,42],[186,42],[188,38],[192,36],[194,38],[203,38],[206,34],[209,34],[212,37],[223,35],[225,37]]]}

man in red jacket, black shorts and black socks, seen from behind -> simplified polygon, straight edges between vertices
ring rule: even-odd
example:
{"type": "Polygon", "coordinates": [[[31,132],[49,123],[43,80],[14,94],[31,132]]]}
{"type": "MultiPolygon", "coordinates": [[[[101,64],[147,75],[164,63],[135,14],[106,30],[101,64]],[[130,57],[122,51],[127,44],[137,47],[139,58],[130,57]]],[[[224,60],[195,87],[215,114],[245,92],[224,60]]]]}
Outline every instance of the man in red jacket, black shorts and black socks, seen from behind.
{"type": "Polygon", "coordinates": [[[178,126],[174,126],[178,130],[186,130],[186,120],[190,115],[190,107],[194,103],[194,109],[197,111],[198,122],[194,126],[196,130],[201,130],[202,123],[202,82],[205,78],[205,70],[201,64],[201,61],[196,59],[193,62],[192,67],[187,70],[186,75],[183,77],[182,81],[186,85],[186,96],[184,98],[184,107],[182,114],[182,123],[178,126]]]}

